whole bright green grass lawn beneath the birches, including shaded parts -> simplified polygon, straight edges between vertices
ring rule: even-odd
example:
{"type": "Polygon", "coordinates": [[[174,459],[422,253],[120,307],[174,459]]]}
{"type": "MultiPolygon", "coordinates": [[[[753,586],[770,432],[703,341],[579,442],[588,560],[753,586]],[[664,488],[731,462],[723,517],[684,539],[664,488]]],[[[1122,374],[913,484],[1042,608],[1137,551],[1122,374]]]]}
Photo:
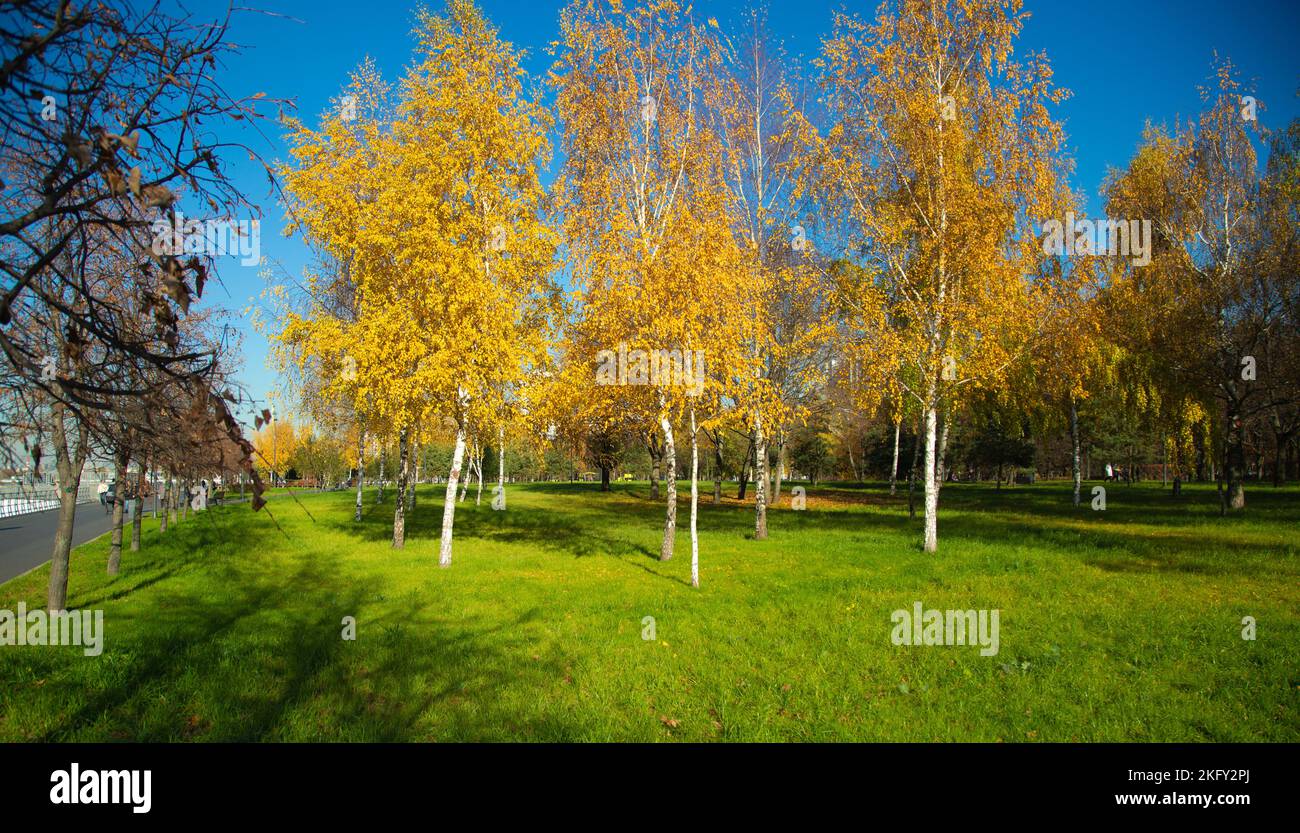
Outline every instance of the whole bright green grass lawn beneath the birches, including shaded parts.
{"type": "MultiPolygon", "coordinates": [[[[1300,739],[1294,487],[1221,519],[1213,487],[1114,486],[1093,512],[1061,483],[953,485],[937,555],[879,485],[783,499],[764,542],[703,498],[699,590],[686,504],[660,563],[646,491],[471,495],[446,570],[432,486],[400,551],[391,491],[361,524],[348,493],[151,522],[116,578],[101,538],[69,604],[105,611],[104,652],[0,647],[0,741],[1300,739]],[[998,608],[1000,654],[894,646],[916,600],[998,608]]],[[[0,608],[42,606],[47,574],[0,608]]]]}

